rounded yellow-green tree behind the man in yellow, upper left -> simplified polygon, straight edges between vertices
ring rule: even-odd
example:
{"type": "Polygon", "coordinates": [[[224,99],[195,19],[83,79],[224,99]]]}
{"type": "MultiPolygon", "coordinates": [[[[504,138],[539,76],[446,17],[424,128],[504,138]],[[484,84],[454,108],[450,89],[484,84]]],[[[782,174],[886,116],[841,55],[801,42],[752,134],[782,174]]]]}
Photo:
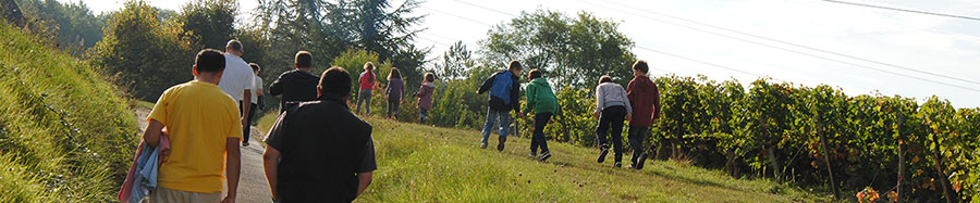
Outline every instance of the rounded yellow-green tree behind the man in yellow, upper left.
{"type": "Polygon", "coordinates": [[[143,1],[127,1],[112,15],[106,38],[90,49],[91,62],[136,99],[155,101],[173,85],[193,79],[196,50],[180,25],[163,23],[143,1]]]}

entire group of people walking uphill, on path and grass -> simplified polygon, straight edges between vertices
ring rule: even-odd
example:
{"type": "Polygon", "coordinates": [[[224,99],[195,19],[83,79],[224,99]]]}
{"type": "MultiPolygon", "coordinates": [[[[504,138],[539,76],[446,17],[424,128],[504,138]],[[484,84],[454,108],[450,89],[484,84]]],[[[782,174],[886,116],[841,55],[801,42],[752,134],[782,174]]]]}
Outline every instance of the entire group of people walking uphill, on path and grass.
{"type": "MultiPolygon", "coordinates": [[[[231,40],[221,52],[198,52],[193,66],[194,80],[167,89],[154,105],[143,135],[144,143],[120,192],[122,202],[234,202],[241,168],[240,143],[248,145],[249,125],[260,104],[261,67],[245,63],[243,46],[231,40]],[[222,185],[228,189],[223,190],[222,185]],[[226,195],[221,196],[225,191],[226,195]]],[[[311,73],[313,54],[299,51],[295,69],[282,73],[268,90],[280,96],[280,115],[268,132],[262,154],[264,169],[273,202],[350,202],[370,185],[378,168],[371,138],[372,127],[360,119],[362,106],[370,112],[370,100],[378,87],[371,62],[364,65],[357,78],[356,109],[350,110],[354,84],[343,67],[330,67],[319,76],[311,73]]],[[[487,78],[477,92],[489,92],[487,120],[481,131],[480,148],[487,148],[491,131],[499,128],[497,150],[503,151],[507,140],[511,111],[535,117],[530,156],[547,161],[552,156],[544,128],[561,114],[544,73],[528,72],[526,105],[520,109],[520,73],[523,66],[512,61],[507,69],[487,78]],[[540,155],[539,155],[540,152],[540,155]]],[[[646,160],[642,141],[660,111],[659,90],[646,76],[644,61],[633,66],[636,76],[627,88],[599,79],[596,88],[599,118],[598,162],[602,163],[613,144],[615,166],[623,154],[621,132],[629,120],[629,144],[634,149],[630,167],[640,169],[646,160]],[[612,136],[612,139],[607,139],[612,136]]],[[[425,123],[432,107],[436,76],[427,73],[418,91],[419,120],[425,123]]],[[[387,116],[397,118],[404,103],[405,81],[392,67],[384,88],[387,116]]]]}

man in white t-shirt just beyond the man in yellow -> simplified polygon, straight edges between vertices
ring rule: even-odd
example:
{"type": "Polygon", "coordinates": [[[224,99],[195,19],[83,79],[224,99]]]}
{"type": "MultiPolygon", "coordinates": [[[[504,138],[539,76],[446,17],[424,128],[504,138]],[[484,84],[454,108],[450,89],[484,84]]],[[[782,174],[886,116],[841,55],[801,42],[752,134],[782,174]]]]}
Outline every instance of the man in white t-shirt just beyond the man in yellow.
{"type": "MultiPolygon", "coordinates": [[[[248,66],[248,63],[242,60],[243,54],[245,54],[245,49],[242,47],[242,42],[234,39],[228,41],[228,46],[224,47],[224,74],[221,75],[221,81],[219,81],[218,87],[221,87],[221,90],[224,90],[225,93],[238,102],[238,112],[242,113],[242,126],[248,126],[245,123],[245,116],[248,115],[248,111],[252,107],[255,73],[252,72],[252,66],[248,66]]],[[[247,147],[248,142],[242,145],[247,147]]]]}

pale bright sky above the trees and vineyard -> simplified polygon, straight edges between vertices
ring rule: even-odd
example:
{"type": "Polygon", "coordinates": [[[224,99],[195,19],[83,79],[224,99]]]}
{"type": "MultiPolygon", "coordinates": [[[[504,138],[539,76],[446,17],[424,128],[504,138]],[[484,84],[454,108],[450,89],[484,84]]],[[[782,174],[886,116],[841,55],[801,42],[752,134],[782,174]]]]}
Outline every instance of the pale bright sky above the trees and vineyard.
{"type": "MultiPolygon", "coordinates": [[[[96,13],[123,2],[81,1],[96,13]]],[[[149,2],[179,10],[187,1],[149,2]]],[[[980,17],[977,0],[844,1],[980,17]]],[[[243,18],[258,4],[240,3],[243,18]]],[[[821,0],[429,0],[415,12],[427,15],[416,43],[432,48],[430,59],[441,59],[455,41],[477,50],[493,25],[539,9],[620,23],[656,76],[700,74],[746,87],[771,77],[840,87],[848,96],[880,92],[919,102],[938,96],[956,107],[980,107],[980,21],[821,0]]]]}

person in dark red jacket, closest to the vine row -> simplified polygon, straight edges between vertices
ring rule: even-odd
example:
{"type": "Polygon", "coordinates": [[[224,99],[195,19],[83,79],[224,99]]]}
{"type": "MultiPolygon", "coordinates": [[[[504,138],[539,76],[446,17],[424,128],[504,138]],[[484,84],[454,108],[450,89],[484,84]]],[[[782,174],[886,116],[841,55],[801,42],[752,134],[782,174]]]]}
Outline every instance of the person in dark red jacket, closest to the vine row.
{"type": "Polygon", "coordinates": [[[647,153],[644,148],[644,140],[649,134],[650,126],[660,117],[660,89],[657,84],[647,77],[647,62],[640,60],[633,64],[633,80],[626,85],[626,97],[629,98],[629,104],[633,105],[633,117],[629,119],[629,147],[633,148],[633,164],[629,165],[634,169],[644,169],[644,162],[647,161],[647,153]]]}

